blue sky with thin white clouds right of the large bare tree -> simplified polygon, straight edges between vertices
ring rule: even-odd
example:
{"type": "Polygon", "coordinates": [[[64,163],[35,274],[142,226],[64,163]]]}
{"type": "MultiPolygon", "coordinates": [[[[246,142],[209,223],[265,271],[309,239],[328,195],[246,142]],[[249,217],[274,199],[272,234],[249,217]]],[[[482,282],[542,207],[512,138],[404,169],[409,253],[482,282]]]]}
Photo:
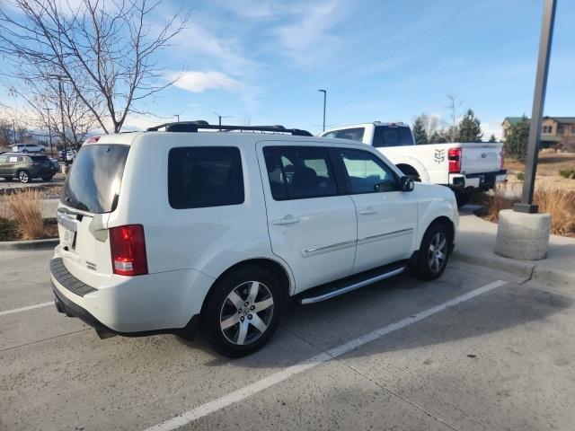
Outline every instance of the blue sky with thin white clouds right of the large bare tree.
{"type": "MultiPolygon", "coordinates": [[[[177,2],[167,1],[166,14],[177,2]]],[[[447,116],[448,92],[484,131],[530,114],[543,0],[186,2],[188,28],[161,54],[181,80],[146,110],[162,117],[327,124],[447,116]]],[[[158,17],[161,18],[161,17],[158,17]]],[[[558,0],[545,114],[575,116],[575,2],[558,0]]],[[[5,97],[5,96],[3,96],[5,97]]],[[[126,128],[158,119],[129,118],[126,128]]]]}

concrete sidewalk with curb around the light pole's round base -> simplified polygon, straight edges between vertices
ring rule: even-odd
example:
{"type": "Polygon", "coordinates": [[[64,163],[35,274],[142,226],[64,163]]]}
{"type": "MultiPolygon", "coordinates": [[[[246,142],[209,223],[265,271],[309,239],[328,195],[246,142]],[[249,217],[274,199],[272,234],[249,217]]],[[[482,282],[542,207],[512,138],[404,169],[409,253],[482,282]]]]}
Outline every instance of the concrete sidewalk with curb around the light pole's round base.
{"type": "Polygon", "coordinates": [[[497,224],[473,214],[471,205],[462,208],[459,236],[453,259],[509,272],[546,286],[575,288],[575,239],[551,235],[547,259],[515,260],[494,253],[497,224]]]}

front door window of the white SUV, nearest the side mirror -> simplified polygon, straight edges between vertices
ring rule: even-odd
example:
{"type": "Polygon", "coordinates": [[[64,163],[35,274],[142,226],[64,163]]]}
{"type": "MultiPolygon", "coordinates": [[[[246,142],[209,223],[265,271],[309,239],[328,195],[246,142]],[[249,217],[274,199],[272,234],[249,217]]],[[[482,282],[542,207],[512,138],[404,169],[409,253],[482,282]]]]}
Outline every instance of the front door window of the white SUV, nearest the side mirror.
{"type": "Polygon", "coordinates": [[[376,193],[376,185],[383,184],[381,191],[397,190],[394,172],[375,154],[363,150],[337,148],[348,173],[348,192],[376,193]]]}

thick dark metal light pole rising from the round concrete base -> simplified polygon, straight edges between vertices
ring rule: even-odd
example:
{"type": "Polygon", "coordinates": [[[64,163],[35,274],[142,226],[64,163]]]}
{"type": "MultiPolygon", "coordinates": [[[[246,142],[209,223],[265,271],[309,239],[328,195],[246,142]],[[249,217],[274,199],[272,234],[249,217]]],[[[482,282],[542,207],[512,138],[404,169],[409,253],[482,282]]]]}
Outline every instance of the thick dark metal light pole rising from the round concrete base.
{"type": "Polygon", "coordinates": [[[520,213],[536,213],[539,208],[533,203],[535,189],[535,173],[537,172],[537,154],[539,150],[539,136],[541,136],[541,122],[547,87],[547,72],[549,71],[549,56],[553,40],[553,23],[555,21],[556,0],[545,0],[543,11],[543,25],[541,27],[541,41],[539,43],[539,57],[537,59],[537,75],[535,76],[535,95],[533,97],[533,111],[531,113],[531,126],[527,139],[527,154],[525,164],[525,180],[521,202],[515,204],[513,209],[520,213]]]}

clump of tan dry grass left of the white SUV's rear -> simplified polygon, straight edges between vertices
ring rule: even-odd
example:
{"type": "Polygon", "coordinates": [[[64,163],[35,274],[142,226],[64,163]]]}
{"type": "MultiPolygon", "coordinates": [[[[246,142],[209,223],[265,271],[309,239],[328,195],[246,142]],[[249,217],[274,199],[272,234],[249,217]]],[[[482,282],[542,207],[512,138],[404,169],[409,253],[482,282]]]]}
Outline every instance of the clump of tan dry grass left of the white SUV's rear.
{"type": "Polygon", "coordinates": [[[36,240],[48,236],[42,219],[42,193],[26,190],[4,198],[5,211],[18,224],[22,240],[36,240]]]}

